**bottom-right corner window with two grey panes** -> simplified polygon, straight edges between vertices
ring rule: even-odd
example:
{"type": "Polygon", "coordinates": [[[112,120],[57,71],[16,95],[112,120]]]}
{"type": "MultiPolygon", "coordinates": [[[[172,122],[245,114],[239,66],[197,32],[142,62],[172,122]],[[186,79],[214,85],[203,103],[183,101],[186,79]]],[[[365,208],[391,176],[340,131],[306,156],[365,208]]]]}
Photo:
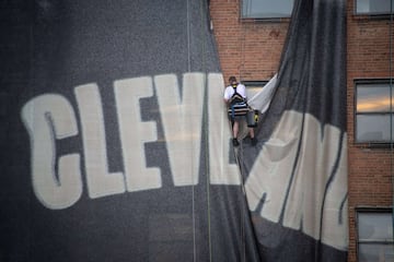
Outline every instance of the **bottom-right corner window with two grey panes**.
{"type": "Polygon", "coordinates": [[[394,261],[392,210],[357,212],[358,262],[394,261]]]}

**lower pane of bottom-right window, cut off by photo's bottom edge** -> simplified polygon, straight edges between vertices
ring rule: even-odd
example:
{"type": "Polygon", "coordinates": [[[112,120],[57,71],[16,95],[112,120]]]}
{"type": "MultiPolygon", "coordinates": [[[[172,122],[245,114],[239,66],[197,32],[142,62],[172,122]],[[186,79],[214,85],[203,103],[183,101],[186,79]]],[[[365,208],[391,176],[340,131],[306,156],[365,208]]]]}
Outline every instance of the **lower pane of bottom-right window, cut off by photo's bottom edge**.
{"type": "Polygon", "coordinates": [[[359,262],[393,262],[393,245],[360,243],[358,250],[359,262]]]}

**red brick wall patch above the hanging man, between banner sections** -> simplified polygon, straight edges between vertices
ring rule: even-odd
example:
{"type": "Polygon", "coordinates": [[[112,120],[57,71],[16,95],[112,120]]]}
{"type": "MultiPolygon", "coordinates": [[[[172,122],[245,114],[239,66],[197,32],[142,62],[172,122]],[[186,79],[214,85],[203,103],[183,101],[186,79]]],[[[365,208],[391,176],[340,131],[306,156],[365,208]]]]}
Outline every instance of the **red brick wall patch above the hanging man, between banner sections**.
{"type": "Polygon", "coordinates": [[[277,71],[287,22],[241,23],[240,0],[211,0],[210,14],[221,68],[227,81],[269,80],[277,71]]]}

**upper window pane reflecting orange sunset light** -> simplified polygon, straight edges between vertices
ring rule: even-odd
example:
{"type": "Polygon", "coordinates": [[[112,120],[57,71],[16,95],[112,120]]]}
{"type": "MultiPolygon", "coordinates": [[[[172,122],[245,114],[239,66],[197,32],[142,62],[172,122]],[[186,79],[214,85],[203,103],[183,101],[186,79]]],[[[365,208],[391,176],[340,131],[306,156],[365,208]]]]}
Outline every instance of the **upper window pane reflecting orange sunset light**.
{"type": "Polygon", "coordinates": [[[357,85],[357,111],[389,112],[390,85],[389,84],[357,85]]]}

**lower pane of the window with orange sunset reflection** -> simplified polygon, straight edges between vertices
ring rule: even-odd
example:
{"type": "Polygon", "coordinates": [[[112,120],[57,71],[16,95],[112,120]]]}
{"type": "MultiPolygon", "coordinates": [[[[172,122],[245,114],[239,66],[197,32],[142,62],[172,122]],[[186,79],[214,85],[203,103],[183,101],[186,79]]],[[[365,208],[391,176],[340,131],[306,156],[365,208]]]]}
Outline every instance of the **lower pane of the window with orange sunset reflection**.
{"type": "MultiPolygon", "coordinates": [[[[357,115],[357,142],[390,142],[390,114],[357,115]]],[[[394,139],[394,119],[392,121],[392,136],[394,139]]]]}

